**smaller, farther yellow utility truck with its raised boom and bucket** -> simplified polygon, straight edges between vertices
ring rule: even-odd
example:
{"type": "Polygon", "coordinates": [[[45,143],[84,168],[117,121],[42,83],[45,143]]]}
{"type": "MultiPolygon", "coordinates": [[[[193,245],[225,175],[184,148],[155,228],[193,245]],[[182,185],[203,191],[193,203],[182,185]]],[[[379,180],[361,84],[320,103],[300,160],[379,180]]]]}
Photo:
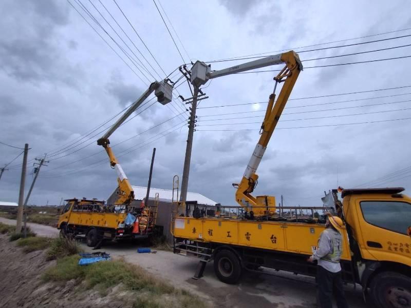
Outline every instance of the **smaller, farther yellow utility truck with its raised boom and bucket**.
{"type": "Polygon", "coordinates": [[[153,233],[157,206],[143,208],[132,206],[133,188],[114,155],[108,138],[153,92],[162,105],[168,104],[173,97],[173,86],[168,81],[165,79],[152,83],[115,124],[97,140],[97,144],[102,146],[108,154],[110,167],[116,169],[118,174],[117,199],[114,204],[104,204],[103,201],[96,199],[66,200],[66,206],[57,225],[62,234],[84,234],[87,245],[94,247],[100,245],[103,239],[147,238],[153,233]]]}

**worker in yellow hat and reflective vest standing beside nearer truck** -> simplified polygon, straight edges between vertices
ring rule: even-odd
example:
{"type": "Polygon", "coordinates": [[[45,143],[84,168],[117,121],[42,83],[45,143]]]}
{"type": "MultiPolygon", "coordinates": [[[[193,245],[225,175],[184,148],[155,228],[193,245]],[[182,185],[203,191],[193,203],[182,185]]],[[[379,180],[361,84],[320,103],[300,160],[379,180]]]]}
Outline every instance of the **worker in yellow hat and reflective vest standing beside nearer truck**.
{"type": "Polygon", "coordinates": [[[317,304],[321,308],[332,308],[334,295],[338,308],[347,308],[343,280],[341,277],[340,259],[343,252],[341,229],[343,220],[327,213],[325,230],[321,233],[317,248],[307,260],[317,260],[317,304]]]}

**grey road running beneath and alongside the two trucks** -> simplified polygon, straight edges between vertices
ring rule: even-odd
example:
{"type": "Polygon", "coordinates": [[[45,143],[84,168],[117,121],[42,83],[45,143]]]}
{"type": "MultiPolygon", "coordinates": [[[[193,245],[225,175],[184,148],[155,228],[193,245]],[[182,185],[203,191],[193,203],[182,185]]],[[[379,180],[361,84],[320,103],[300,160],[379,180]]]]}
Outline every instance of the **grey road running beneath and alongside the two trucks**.
{"type": "MultiPolygon", "coordinates": [[[[15,224],[15,220],[1,222],[15,224]]],[[[58,230],[30,223],[30,228],[42,236],[57,236],[58,230]]],[[[153,254],[137,253],[137,244],[130,242],[107,243],[100,251],[112,256],[121,256],[127,262],[143,266],[147,271],[169,280],[173,285],[191,290],[208,298],[215,307],[258,307],[258,308],[306,308],[315,307],[314,279],[306,276],[295,276],[284,272],[270,272],[275,276],[246,273],[239,284],[228,285],[220,282],[213,273],[213,263],[207,265],[204,277],[194,280],[198,260],[175,255],[171,252],[157,251],[153,254]]],[[[83,244],[86,251],[90,249],[83,244]]],[[[361,289],[346,287],[346,296],[350,308],[365,308],[361,289]]]]}

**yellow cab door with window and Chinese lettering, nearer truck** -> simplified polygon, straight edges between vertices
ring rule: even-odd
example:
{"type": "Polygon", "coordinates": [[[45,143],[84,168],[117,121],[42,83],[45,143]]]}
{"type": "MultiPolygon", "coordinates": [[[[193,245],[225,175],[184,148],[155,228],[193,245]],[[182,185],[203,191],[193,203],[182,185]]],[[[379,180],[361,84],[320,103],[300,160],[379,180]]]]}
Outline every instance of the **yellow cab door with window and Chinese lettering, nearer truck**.
{"type": "Polygon", "coordinates": [[[411,204],[393,199],[357,200],[363,249],[377,260],[411,265],[411,204]]]}

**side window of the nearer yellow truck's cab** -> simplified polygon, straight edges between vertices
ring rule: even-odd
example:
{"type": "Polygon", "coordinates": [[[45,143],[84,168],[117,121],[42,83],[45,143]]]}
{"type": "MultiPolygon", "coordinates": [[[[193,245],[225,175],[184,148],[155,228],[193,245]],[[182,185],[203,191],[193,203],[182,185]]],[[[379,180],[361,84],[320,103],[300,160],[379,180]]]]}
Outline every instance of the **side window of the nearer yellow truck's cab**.
{"type": "Polygon", "coordinates": [[[407,234],[411,225],[411,204],[398,201],[362,201],[360,206],[368,223],[407,234]]]}

